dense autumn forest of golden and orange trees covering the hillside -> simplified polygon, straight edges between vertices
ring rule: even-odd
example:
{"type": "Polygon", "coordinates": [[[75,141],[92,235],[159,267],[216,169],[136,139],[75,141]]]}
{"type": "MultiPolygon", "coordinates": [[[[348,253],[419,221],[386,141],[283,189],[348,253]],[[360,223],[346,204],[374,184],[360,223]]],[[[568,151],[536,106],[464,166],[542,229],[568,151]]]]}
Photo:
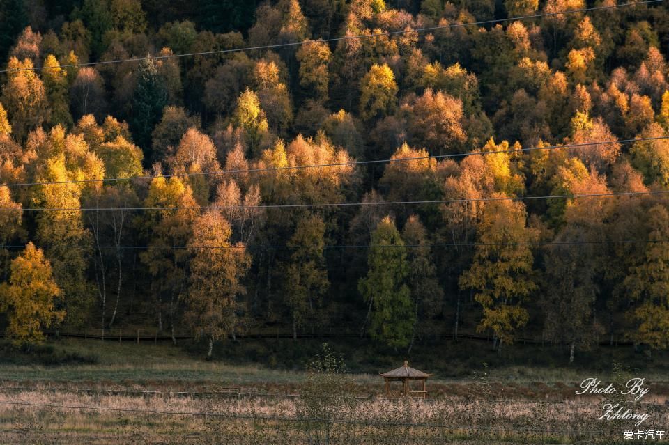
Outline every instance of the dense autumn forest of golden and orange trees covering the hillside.
{"type": "Polygon", "coordinates": [[[0,331],[669,347],[669,4],[0,0],[0,331]]]}

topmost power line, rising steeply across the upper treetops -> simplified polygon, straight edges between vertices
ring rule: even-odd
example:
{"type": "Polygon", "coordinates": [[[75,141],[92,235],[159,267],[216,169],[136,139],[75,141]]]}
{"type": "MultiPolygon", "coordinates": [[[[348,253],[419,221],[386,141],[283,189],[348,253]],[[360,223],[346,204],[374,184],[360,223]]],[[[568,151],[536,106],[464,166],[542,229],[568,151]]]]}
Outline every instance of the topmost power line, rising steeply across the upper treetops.
{"type": "Polygon", "coordinates": [[[254,46],[254,47],[218,49],[218,50],[213,50],[213,51],[191,52],[191,53],[185,53],[185,54],[165,54],[164,56],[146,56],[146,57],[139,57],[139,58],[123,58],[123,59],[116,59],[116,60],[112,60],[112,61],[99,61],[99,62],[87,62],[87,63],[68,63],[66,65],[59,65],[59,66],[55,66],[55,67],[40,66],[40,67],[36,67],[36,68],[15,68],[15,69],[11,69],[11,70],[5,69],[5,70],[0,70],[0,73],[2,73],[2,72],[20,72],[20,71],[29,71],[29,70],[41,71],[41,70],[47,70],[49,68],[78,68],[78,67],[97,66],[97,65],[112,65],[112,64],[116,64],[116,63],[126,63],[126,62],[139,62],[139,61],[145,61],[145,60],[162,60],[162,59],[192,57],[192,56],[210,56],[210,55],[214,55],[214,54],[230,54],[230,53],[235,53],[235,52],[256,51],[256,50],[263,50],[263,49],[277,49],[277,48],[283,48],[283,47],[296,47],[296,46],[301,46],[301,45],[308,45],[309,43],[313,43],[313,42],[328,42],[328,43],[330,43],[330,42],[339,42],[339,41],[344,41],[344,40],[359,40],[359,39],[362,39],[362,38],[397,36],[397,35],[407,34],[407,33],[422,33],[422,32],[426,32],[426,31],[437,31],[439,29],[462,28],[462,27],[467,27],[467,26],[482,26],[482,25],[498,24],[498,23],[505,23],[505,22],[513,22],[515,20],[538,19],[538,18],[541,18],[541,17],[554,17],[556,15],[567,15],[567,14],[575,14],[575,13],[589,13],[589,12],[598,11],[598,10],[625,8],[626,6],[649,5],[649,4],[652,4],[652,3],[661,3],[662,1],[663,0],[646,0],[646,1],[622,3],[620,5],[594,6],[592,8],[580,8],[580,9],[573,9],[573,10],[556,11],[555,13],[541,13],[541,14],[533,14],[533,15],[523,15],[523,16],[519,16],[519,17],[507,17],[505,19],[482,20],[480,22],[452,23],[452,24],[447,24],[447,25],[429,26],[429,27],[426,27],[426,28],[404,29],[402,31],[386,31],[386,32],[383,32],[383,33],[360,34],[360,35],[357,35],[357,36],[344,36],[344,37],[327,38],[327,39],[321,39],[321,40],[302,41],[302,42],[277,43],[277,44],[274,44],[274,45],[259,45],[259,46],[254,46]]]}

